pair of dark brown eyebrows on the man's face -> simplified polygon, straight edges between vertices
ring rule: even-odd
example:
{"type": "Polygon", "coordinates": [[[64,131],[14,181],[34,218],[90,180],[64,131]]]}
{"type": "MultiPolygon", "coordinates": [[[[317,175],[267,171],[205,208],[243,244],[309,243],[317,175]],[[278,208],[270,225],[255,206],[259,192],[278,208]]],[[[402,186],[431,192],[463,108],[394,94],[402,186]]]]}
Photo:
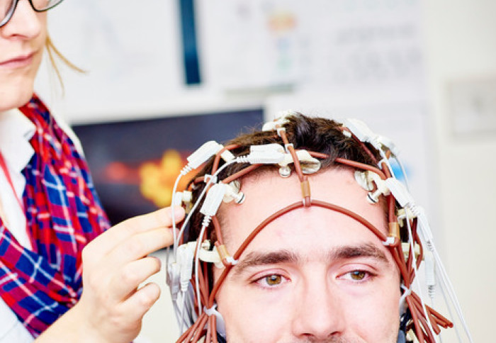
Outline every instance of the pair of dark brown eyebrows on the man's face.
{"type": "MultiPolygon", "coordinates": [[[[316,253],[321,254],[320,252],[316,253]]],[[[325,259],[326,254],[322,254],[322,257],[325,259]]],[[[385,253],[371,243],[361,245],[345,245],[327,252],[328,261],[337,259],[355,259],[358,257],[371,257],[385,264],[390,263],[385,253]]],[[[300,262],[305,263],[305,259],[307,259],[307,257],[302,259],[295,252],[291,252],[286,249],[276,250],[274,252],[250,252],[246,257],[239,261],[238,264],[236,264],[232,272],[239,275],[252,266],[264,266],[280,263],[298,264],[300,262]]]]}

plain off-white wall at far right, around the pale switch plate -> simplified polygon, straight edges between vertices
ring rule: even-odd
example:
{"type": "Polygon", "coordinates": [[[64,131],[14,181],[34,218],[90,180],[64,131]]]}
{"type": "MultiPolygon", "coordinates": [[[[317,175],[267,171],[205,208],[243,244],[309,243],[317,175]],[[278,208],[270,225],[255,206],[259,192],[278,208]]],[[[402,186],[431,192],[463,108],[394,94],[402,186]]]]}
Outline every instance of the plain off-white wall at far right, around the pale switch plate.
{"type": "Polygon", "coordinates": [[[449,84],[496,77],[495,16],[493,0],[424,1],[444,261],[475,342],[494,341],[496,132],[453,135],[449,84]]]}

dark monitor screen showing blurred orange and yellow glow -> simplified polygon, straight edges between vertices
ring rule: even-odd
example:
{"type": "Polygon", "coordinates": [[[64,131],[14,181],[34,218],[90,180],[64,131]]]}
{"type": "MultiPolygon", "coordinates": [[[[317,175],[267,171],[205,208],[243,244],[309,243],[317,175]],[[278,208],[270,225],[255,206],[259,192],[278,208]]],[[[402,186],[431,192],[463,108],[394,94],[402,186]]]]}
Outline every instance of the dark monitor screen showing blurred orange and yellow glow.
{"type": "MultiPolygon", "coordinates": [[[[260,129],[263,111],[191,114],[74,125],[111,223],[169,206],[186,157],[208,140],[260,129]]],[[[184,189],[192,173],[181,178],[184,189]],[[188,177],[189,176],[189,177],[188,177]]]]}

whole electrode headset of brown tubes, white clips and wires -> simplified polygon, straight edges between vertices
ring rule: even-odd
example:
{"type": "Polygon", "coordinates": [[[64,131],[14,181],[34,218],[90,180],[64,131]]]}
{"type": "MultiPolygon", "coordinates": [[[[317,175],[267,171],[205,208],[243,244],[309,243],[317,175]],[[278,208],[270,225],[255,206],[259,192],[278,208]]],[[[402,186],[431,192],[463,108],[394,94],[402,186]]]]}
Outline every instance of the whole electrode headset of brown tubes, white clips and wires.
{"type": "MultiPolygon", "coordinates": [[[[374,227],[360,215],[332,203],[312,199],[310,192],[310,181],[306,174],[312,174],[320,168],[320,161],[329,159],[329,154],[323,152],[312,152],[296,149],[295,142],[288,140],[286,126],[291,121],[289,116],[284,116],[274,122],[264,125],[264,135],[270,137],[271,143],[261,140],[263,144],[252,145],[249,154],[235,157],[232,152],[242,147],[237,144],[222,147],[216,142],[207,142],[199,150],[188,157],[188,165],[184,167],[174,185],[173,204],[182,204],[186,207],[188,215],[182,223],[179,234],[176,235],[174,226],[174,248],[171,261],[167,261],[167,283],[171,290],[174,310],[181,328],[181,337],[177,342],[218,342],[218,334],[225,337],[225,327],[222,315],[216,310],[215,296],[222,282],[230,270],[237,264],[244,249],[252,242],[254,237],[276,218],[292,210],[303,207],[317,206],[337,211],[362,225],[368,227],[383,244],[388,247],[393,260],[398,266],[402,284],[402,297],[400,300],[400,313],[407,317],[405,331],[415,333],[419,343],[436,343],[436,336],[441,332],[441,327],[453,327],[453,323],[443,315],[436,312],[422,300],[420,296],[412,291],[414,282],[420,289],[415,276],[418,274],[419,266],[424,259],[424,245],[427,252],[434,257],[434,266],[438,273],[436,278],[441,281],[441,290],[446,289],[449,293],[451,303],[456,308],[456,313],[463,323],[466,337],[472,342],[470,332],[463,320],[458,300],[441,263],[439,254],[436,252],[432,241],[427,219],[415,201],[413,201],[407,186],[404,186],[393,174],[390,160],[394,159],[400,167],[398,151],[390,140],[383,136],[373,134],[363,123],[358,120],[347,120],[339,130],[342,131],[343,140],[353,140],[358,147],[370,157],[372,163],[366,164],[351,159],[336,157],[334,164],[342,164],[345,167],[355,169],[356,181],[368,191],[368,201],[377,203],[380,197],[385,198],[388,213],[388,234],[385,235],[377,227],[374,227]],[[277,142],[278,141],[278,142],[277,142]],[[301,153],[305,152],[305,153],[301,153]],[[220,160],[223,160],[220,166],[220,160]],[[201,164],[210,160],[204,167],[206,171],[203,176],[194,179],[187,191],[176,192],[179,179],[188,171],[198,168],[201,164]],[[242,203],[242,194],[237,180],[255,169],[267,165],[280,167],[281,176],[287,176],[288,164],[293,164],[293,169],[298,175],[302,190],[302,201],[281,208],[273,215],[260,223],[232,256],[227,252],[222,240],[222,232],[219,221],[215,214],[222,201],[235,201],[242,203]],[[235,164],[241,167],[233,169],[235,164]],[[220,166],[220,167],[219,167],[220,166]],[[227,174],[227,175],[223,175],[227,174]],[[221,177],[222,176],[222,177],[221,177]],[[196,193],[195,203],[191,203],[191,193],[196,193]],[[185,200],[186,199],[186,200],[185,200]],[[201,223],[195,223],[200,227],[196,242],[184,243],[184,234],[190,223],[191,216],[201,206],[199,212],[203,215],[201,223]],[[211,241],[215,242],[211,244],[211,241]],[[219,279],[213,283],[211,276],[211,264],[223,268],[219,279]],[[186,330],[184,330],[186,327],[186,330]]],[[[299,118],[302,116],[297,115],[299,118]]],[[[348,143],[346,143],[348,144],[348,143]]],[[[403,176],[405,171],[402,168],[403,176]]],[[[174,215],[174,213],[172,213],[174,215]]],[[[431,269],[429,269],[430,271],[431,269]]],[[[434,274],[434,271],[432,271],[434,274]]],[[[429,284],[429,295],[432,295],[433,284],[429,284]]],[[[459,342],[463,342],[458,334],[459,342]]]]}

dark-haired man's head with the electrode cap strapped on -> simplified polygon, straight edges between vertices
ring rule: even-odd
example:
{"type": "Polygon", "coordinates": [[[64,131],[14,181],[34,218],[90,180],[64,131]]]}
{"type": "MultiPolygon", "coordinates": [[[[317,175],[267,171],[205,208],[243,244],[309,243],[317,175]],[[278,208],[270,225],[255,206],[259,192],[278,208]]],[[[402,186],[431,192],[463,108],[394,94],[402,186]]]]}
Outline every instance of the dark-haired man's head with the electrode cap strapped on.
{"type": "MultiPolygon", "coordinates": [[[[419,317],[404,292],[415,259],[403,257],[385,187],[387,147],[378,151],[332,120],[292,115],[225,149],[231,154],[220,150],[193,179],[191,203],[201,210],[193,207],[186,238],[215,242],[213,251],[198,244],[198,266],[211,252],[224,266],[193,273],[203,315],[178,342],[195,342],[207,321],[215,339],[219,320],[228,342],[393,343],[400,315],[418,324],[411,310],[400,313],[407,298],[419,317]]],[[[415,219],[401,226],[419,244],[415,219]]]]}

